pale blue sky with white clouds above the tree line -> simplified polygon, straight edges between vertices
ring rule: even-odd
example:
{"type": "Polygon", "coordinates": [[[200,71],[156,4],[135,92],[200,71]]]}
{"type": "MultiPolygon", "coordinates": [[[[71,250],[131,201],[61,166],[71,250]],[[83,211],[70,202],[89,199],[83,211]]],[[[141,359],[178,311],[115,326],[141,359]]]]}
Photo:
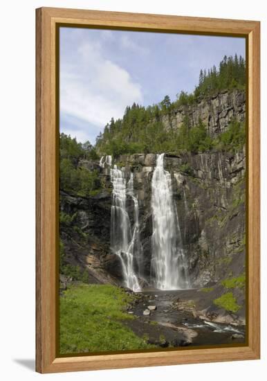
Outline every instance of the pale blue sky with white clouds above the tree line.
{"type": "Polygon", "coordinates": [[[127,105],[194,91],[201,69],[245,57],[241,37],[65,28],[59,31],[60,132],[90,141],[127,105]]]}

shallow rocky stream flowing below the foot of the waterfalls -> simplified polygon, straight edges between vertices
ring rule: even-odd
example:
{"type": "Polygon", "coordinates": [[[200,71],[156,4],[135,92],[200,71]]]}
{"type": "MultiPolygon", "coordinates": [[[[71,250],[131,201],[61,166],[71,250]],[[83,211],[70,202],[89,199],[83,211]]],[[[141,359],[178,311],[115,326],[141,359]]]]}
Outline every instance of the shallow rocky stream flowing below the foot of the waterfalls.
{"type": "Polygon", "coordinates": [[[243,343],[244,326],[196,316],[196,294],[197,290],[143,290],[128,310],[137,319],[125,321],[125,324],[136,335],[147,337],[150,344],[164,348],[243,343]],[[149,306],[156,310],[144,315],[149,306]]]}

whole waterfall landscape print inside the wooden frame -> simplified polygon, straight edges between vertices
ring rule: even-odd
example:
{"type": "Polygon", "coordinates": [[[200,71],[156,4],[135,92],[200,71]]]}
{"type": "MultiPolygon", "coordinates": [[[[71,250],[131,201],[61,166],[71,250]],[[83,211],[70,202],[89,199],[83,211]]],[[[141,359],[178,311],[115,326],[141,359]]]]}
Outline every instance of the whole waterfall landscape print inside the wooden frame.
{"type": "Polygon", "coordinates": [[[59,354],[246,342],[246,40],[59,28],[59,354]]]}

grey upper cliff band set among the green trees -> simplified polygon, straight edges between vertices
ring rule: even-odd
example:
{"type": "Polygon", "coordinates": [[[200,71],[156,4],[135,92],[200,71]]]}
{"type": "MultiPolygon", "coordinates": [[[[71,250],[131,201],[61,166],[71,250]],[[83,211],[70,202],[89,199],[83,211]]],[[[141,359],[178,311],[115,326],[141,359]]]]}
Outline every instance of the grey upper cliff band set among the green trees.
{"type": "Polygon", "coordinates": [[[163,116],[163,125],[167,130],[179,129],[185,116],[191,127],[198,125],[199,119],[208,127],[210,136],[214,137],[227,130],[232,118],[244,121],[246,113],[246,94],[244,91],[225,91],[212,98],[199,97],[193,105],[178,107],[171,115],[163,116]]]}

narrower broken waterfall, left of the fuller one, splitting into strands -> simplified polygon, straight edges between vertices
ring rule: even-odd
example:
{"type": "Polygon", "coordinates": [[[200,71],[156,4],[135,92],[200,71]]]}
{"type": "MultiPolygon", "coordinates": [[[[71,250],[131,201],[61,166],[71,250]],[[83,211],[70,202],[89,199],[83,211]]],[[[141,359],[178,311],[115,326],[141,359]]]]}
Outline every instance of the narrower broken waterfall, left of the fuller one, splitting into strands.
{"type": "MultiPolygon", "coordinates": [[[[109,161],[111,163],[111,161],[109,161]]],[[[111,168],[112,206],[111,206],[111,250],[117,254],[122,264],[125,285],[133,291],[141,287],[134,268],[140,257],[140,238],[138,223],[138,200],[133,193],[133,174],[127,182],[125,168],[116,165],[111,168]],[[132,200],[134,208],[134,224],[127,212],[127,197],[132,200]],[[137,258],[136,258],[137,257],[137,258]]]]}

